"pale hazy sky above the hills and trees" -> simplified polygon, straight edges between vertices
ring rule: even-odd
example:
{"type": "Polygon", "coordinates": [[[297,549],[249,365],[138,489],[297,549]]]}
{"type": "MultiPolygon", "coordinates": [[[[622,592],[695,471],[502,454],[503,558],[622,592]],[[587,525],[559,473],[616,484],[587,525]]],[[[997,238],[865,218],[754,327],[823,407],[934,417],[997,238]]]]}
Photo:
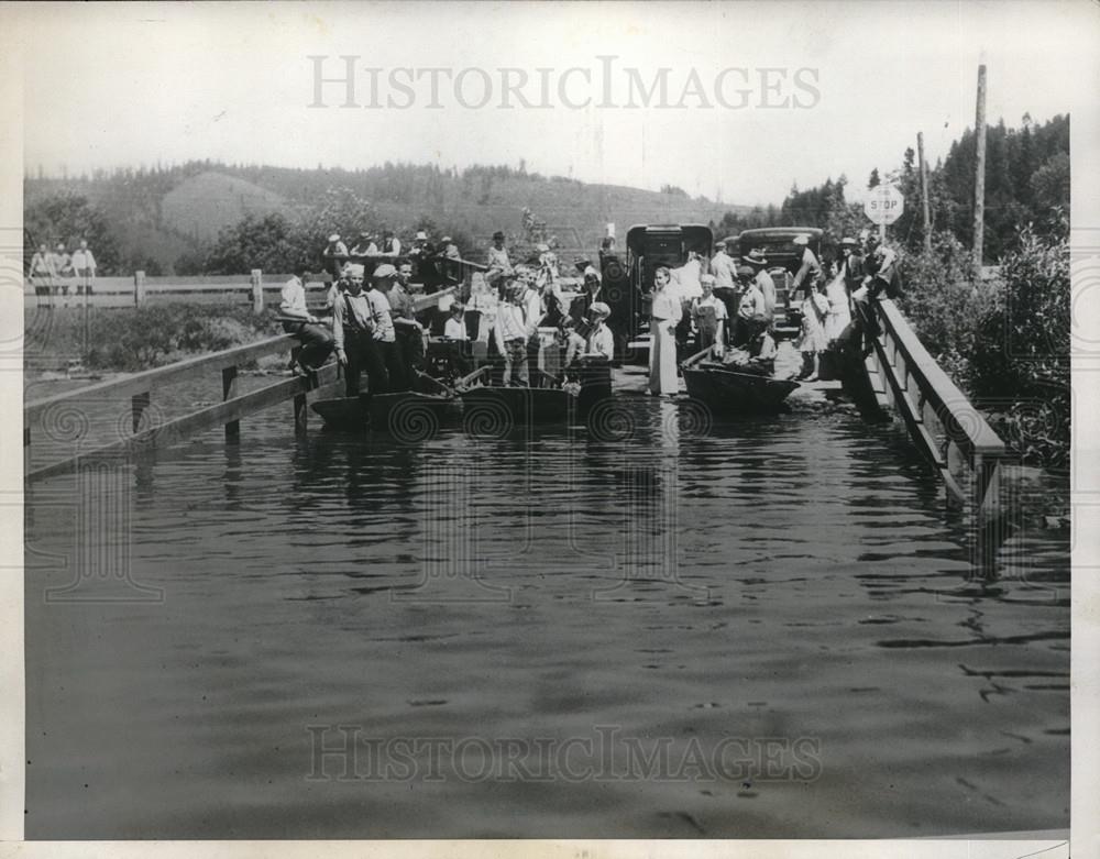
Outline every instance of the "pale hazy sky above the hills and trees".
{"type": "Polygon", "coordinates": [[[990,122],[1069,112],[1096,91],[1100,42],[1098,7],[1059,0],[6,4],[0,19],[23,51],[29,173],[522,161],[747,205],[840,174],[862,186],[919,131],[934,164],[974,125],[981,62],[990,122]],[[318,76],[334,79],[319,99],[318,76]]]}

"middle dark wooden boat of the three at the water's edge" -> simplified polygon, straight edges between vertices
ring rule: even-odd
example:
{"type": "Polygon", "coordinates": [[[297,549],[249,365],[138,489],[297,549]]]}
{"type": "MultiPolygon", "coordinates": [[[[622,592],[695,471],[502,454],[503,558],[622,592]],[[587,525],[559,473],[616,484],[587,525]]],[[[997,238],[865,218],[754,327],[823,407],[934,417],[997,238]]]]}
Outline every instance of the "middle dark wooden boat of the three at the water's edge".
{"type": "Polygon", "coordinates": [[[536,370],[536,387],[503,387],[485,384],[492,372],[491,366],[484,366],[455,385],[463,423],[473,434],[505,436],[515,427],[564,423],[569,419],[576,397],[563,390],[556,376],[536,370]]]}

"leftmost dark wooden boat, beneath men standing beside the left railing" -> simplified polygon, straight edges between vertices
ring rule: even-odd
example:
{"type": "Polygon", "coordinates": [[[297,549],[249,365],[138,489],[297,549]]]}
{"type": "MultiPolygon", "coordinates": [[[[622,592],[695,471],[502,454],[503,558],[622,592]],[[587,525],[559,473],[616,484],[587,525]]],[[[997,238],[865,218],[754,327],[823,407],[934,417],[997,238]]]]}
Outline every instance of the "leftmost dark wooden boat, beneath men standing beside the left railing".
{"type": "Polygon", "coordinates": [[[430,376],[418,374],[416,386],[417,390],[319,399],[312,409],[330,429],[361,432],[370,427],[395,438],[422,441],[457,419],[462,404],[453,390],[430,376]]]}

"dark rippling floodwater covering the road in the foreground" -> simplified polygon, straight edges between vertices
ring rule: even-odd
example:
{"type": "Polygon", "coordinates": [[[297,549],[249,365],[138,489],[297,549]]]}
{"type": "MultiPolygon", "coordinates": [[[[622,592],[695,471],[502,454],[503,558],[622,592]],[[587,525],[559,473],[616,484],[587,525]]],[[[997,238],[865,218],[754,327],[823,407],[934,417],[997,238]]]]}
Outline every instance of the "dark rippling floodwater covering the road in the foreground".
{"type": "Polygon", "coordinates": [[[29,488],[29,838],[1068,826],[1068,538],[976,569],[894,428],[288,412],[29,488]]]}

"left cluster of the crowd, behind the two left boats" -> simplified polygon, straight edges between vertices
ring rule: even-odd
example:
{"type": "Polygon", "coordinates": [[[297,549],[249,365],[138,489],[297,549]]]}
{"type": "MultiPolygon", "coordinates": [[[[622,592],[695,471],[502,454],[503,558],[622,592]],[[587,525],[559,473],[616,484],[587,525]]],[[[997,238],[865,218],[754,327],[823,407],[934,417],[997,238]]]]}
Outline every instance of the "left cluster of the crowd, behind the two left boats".
{"type": "Polygon", "coordinates": [[[450,236],[435,244],[417,233],[405,253],[391,233],[382,234],[381,244],[377,238],[364,232],[349,251],[339,234],[329,236],[322,256],[332,285],[320,316],[307,306],[308,272],[284,285],[283,327],[301,342],[292,362],[295,372],[312,372],[334,353],[344,366],[348,396],[359,393],[364,374],[372,392],[407,390],[425,371],[429,334],[443,345],[452,376],[468,374],[479,355],[497,368],[504,385],[541,384],[532,371],[544,366],[556,348],[562,354],[560,362],[551,360],[554,370],[614,359],[612,310],[600,300],[601,273],[587,261],[576,262],[583,289],[569,296],[547,244],[514,263],[498,231],[479,264],[462,260],[450,236]],[[468,295],[457,295],[465,283],[463,266],[483,274],[472,278],[468,295]],[[437,300],[417,309],[416,294],[437,300]],[[556,332],[549,343],[543,341],[548,328],[556,332]]]}

